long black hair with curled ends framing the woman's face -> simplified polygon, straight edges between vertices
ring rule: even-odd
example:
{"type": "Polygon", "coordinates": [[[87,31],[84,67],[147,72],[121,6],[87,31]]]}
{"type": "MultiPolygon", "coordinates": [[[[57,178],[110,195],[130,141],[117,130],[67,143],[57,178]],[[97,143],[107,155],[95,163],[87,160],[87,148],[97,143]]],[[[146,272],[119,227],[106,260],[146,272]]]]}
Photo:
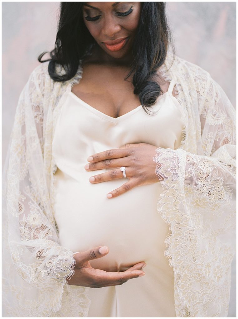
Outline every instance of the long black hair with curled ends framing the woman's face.
{"type": "MultiPolygon", "coordinates": [[[[48,72],[54,81],[67,81],[76,74],[80,60],[89,56],[96,41],[85,26],[82,15],[83,2],[61,2],[55,48],[50,59],[43,60],[46,51],[38,56],[39,62],[49,62],[48,72]],[[56,72],[60,64],[64,75],[56,72]]],[[[154,80],[157,69],[165,62],[172,36],[167,24],[165,2],[141,2],[141,16],[132,43],[134,62],[127,79],[133,72],[134,94],[139,95],[142,107],[153,105],[161,93],[154,80]]],[[[173,49],[174,51],[174,49],[173,49]]]]}

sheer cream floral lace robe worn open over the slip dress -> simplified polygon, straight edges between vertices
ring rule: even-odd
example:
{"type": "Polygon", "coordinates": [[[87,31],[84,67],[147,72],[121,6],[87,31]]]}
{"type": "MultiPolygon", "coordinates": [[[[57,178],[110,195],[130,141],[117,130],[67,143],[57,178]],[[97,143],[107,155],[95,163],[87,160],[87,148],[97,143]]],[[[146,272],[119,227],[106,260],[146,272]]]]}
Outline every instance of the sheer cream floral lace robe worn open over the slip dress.
{"type": "MultiPolygon", "coordinates": [[[[64,72],[58,68],[59,72],[64,72]]],[[[226,316],[234,256],[235,113],[198,66],[168,54],[160,68],[176,83],[185,123],[180,148],[158,148],[163,186],[158,212],[169,224],[165,256],[174,270],[176,315],[226,316]]],[[[3,308],[13,317],[85,317],[86,287],[67,285],[73,252],[60,246],[54,219],[52,139],[68,86],[48,63],[30,75],[17,106],[3,174],[3,308]]]]}

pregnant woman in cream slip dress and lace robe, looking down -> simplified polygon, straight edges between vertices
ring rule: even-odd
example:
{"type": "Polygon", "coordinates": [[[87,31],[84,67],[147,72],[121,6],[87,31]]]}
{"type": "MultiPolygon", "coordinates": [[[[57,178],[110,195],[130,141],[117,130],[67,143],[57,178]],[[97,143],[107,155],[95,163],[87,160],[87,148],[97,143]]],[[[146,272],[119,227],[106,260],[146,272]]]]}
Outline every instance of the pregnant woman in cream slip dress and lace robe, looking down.
{"type": "Polygon", "coordinates": [[[8,316],[227,315],[234,108],[171,47],[163,2],[61,3],[8,153],[8,316]]]}

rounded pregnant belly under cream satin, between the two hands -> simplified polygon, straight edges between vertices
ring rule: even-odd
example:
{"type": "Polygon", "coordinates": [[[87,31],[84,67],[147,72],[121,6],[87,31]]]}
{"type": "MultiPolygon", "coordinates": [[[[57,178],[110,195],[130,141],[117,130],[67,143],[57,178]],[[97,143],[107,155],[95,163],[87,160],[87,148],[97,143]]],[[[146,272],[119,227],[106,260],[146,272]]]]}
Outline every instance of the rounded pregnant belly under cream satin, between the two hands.
{"type": "Polygon", "coordinates": [[[160,183],[108,199],[106,194],[127,180],[91,184],[88,178],[94,174],[82,171],[77,180],[60,170],[55,174],[54,213],[61,245],[73,252],[108,246],[106,256],[90,262],[105,271],[164,257],[168,226],[157,212],[160,183]]]}

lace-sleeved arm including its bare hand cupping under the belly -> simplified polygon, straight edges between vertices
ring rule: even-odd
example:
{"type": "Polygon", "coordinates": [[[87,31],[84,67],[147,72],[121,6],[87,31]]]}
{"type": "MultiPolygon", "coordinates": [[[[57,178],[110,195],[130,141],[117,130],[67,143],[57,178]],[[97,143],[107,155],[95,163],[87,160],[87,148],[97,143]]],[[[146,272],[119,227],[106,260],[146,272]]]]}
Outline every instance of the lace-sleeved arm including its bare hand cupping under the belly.
{"type": "Polygon", "coordinates": [[[145,263],[124,272],[101,271],[88,262],[105,255],[100,247],[73,253],[60,245],[50,186],[53,119],[47,107],[49,95],[55,92],[51,85],[46,70],[35,69],[20,95],[15,115],[4,186],[4,220],[8,223],[4,292],[11,287],[15,298],[7,296],[4,302],[11,315],[86,316],[89,300],[85,286],[121,285],[144,274],[140,269],[145,263]]]}

